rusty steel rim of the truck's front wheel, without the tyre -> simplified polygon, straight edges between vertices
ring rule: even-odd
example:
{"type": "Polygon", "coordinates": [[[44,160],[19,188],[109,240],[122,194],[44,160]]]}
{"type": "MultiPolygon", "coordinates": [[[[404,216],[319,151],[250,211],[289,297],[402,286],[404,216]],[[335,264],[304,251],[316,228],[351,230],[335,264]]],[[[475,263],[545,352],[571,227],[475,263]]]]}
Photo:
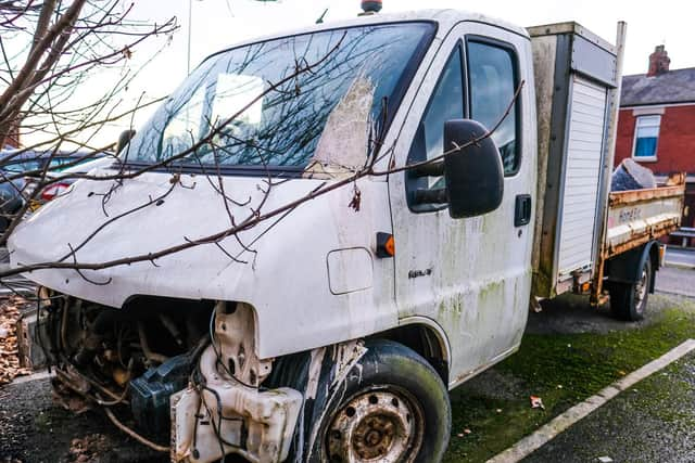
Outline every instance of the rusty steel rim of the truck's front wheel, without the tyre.
{"type": "Polygon", "coordinates": [[[409,463],[422,445],[424,420],[408,395],[371,390],[353,397],[328,428],[331,463],[409,463]]]}

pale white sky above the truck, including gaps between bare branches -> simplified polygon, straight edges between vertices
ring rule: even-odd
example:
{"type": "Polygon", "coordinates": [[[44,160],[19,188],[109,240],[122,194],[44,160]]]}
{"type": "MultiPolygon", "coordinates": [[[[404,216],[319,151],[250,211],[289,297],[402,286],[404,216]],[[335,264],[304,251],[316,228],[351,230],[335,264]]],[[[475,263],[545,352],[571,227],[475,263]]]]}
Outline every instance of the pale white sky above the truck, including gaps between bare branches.
{"type": "MultiPolygon", "coordinates": [[[[383,13],[455,8],[500,17],[520,26],[577,21],[610,42],[615,42],[618,21],[626,21],[624,75],[645,73],[648,55],[657,44],[666,44],[671,68],[695,67],[695,2],[692,1],[383,0],[383,13]]],[[[236,42],[311,26],[326,9],[326,23],[355,17],[361,11],[359,0],[134,0],[134,4],[131,18],[163,23],[176,16],[180,28],[164,47],[165,41],[160,39],[135,50],[131,66],[139,67],[146,61],[152,61],[129,86],[124,94],[126,101],[135,101],[142,93],[150,98],[162,97],[176,89],[187,75],[189,34],[191,68],[194,68],[205,56],[236,42]],[[190,17],[189,8],[192,12],[190,17]]],[[[150,111],[140,112],[135,118],[135,126],[143,124],[150,114],[150,111]]],[[[102,130],[96,142],[106,144],[115,140],[124,128],[125,125],[111,125],[102,130]]]]}

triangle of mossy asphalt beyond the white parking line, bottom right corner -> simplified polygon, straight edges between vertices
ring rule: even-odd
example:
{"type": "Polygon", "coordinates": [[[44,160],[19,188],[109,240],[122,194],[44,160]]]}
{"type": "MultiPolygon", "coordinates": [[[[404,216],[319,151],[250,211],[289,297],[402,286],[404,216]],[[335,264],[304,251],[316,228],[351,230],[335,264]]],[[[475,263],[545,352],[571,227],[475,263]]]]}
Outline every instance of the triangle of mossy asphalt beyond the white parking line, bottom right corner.
{"type": "Polygon", "coordinates": [[[622,393],[525,463],[695,462],[695,356],[622,393]],[[610,461],[605,460],[605,461],[610,461]]]}

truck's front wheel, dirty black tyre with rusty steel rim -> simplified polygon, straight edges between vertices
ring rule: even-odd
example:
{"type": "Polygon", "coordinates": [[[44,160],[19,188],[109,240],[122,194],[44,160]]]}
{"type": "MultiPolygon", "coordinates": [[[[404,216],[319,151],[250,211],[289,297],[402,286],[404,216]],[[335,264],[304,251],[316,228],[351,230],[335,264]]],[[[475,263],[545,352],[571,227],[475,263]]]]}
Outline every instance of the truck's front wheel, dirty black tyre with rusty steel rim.
{"type": "Polygon", "coordinates": [[[395,455],[399,463],[442,460],[451,435],[451,404],[439,374],[399,343],[377,339],[365,347],[368,351],[339,384],[331,385],[328,376],[320,380],[318,390],[334,394],[311,413],[316,420],[303,436],[303,450],[295,447],[288,461],[298,461],[296,453],[311,463],[346,461],[339,451],[354,452],[357,461],[383,455],[395,455]]]}

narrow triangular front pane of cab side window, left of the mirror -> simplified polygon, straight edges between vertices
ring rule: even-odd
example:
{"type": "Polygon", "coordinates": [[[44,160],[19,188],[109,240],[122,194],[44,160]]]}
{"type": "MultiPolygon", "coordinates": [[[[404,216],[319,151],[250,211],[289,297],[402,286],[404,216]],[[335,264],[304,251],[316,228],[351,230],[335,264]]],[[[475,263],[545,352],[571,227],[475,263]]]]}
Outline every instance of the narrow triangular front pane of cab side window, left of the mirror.
{"type": "MultiPolygon", "coordinates": [[[[441,156],[444,153],[444,123],[464,118],[464,73],[460,46],[456,47],[444,66],[432,92],[425,115],[417,128],[408,153],[408,164],[441,156]]],[[[407,171],[408,206],[414,211],[442,208],[442,205],[416,204],[417,190],[434,190],[444,187],[443,177],[417,177],[407,171]]]]}

